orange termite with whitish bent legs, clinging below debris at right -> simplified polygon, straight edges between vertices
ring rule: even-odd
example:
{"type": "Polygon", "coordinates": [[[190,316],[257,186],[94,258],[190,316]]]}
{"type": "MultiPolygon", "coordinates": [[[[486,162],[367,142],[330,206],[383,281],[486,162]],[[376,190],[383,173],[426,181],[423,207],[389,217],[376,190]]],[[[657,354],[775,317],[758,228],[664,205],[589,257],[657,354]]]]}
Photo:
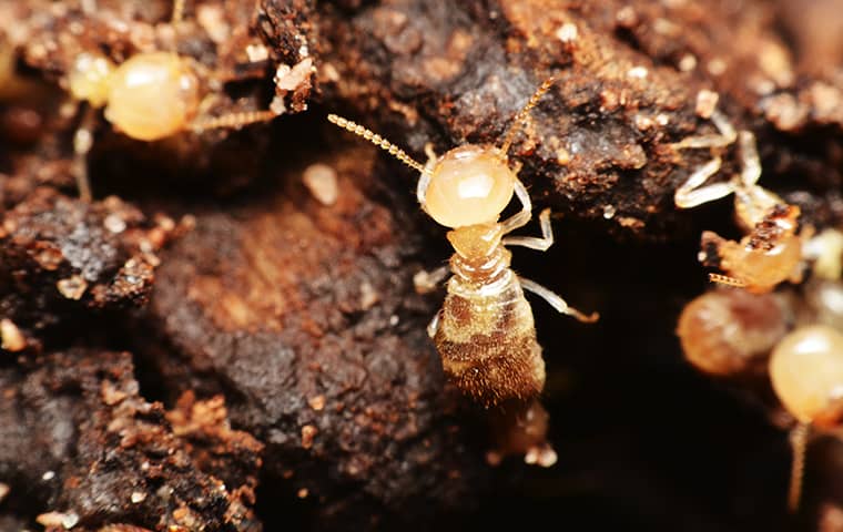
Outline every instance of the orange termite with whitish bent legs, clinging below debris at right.
{"type": "Polygon", "coordinates": [[[673,144],[677,150],[722,149],[737,140],[740,146],[742,170],[739,174],[707,185],[722,164],[721,157],[715,155],[694,171],[674,195],[677,207],[691,208],[734,194],[734,215],[744,237],[734,242],[703,232],[700,260],[708,264],[713,255],[714,263],[727,274],[710,274],[709,278],[753,293],[770,291],[784,280],[799,283],[804,236],[796,234],[800,208],[758,184],[761,163],[751,132],[735,132],[718,111],[712,112],[711,121],[719,134],[690,136],[673,144]]]}

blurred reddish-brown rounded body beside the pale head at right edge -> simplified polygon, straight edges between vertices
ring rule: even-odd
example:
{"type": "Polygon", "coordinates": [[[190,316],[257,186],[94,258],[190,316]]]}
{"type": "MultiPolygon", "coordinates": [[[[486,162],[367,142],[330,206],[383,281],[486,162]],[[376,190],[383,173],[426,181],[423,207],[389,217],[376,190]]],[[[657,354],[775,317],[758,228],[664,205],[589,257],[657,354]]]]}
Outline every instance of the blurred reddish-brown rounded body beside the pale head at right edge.
{"type": "Polygon", "coordinates": [[[773,294],[708,291],[685,305],[677,335],[685,359],[719,377],[766,370],[766,357],[790,326],[785,306],[773,294]]]}

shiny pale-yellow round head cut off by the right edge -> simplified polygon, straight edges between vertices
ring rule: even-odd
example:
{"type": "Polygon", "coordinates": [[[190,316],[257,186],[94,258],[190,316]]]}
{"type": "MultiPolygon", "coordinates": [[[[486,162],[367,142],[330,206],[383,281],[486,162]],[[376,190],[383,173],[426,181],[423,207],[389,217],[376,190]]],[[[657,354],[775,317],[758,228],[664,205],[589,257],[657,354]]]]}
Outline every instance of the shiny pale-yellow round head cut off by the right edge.
{"type": "Polygon", "coordinates": [[[825,325],[798,328],[773,350],[770,379],[799,421],[837,424],[843,417],[843,334],[825,325]]]}

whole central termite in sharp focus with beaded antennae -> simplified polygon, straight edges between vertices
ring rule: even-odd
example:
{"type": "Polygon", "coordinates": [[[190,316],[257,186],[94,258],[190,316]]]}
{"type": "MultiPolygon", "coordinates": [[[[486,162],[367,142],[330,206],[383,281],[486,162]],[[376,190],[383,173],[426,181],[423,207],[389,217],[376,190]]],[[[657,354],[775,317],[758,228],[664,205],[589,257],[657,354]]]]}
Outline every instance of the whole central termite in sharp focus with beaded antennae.
{"type": "MultiPolygon", "coordinates": [[[[419,291],[427,291],[448,273],[454,274],[447,283],[443,308],[430,321],[428,334],[446,376],[485,407],[510,400],[528,403],[544,389],[545,361],[525,289],[580,321],[598,319],[596,313],[580,313],[557,294],[517,276],[509,267],[511,253],[506,246],[544,252],[553,244],[549,208],[539,215],[541,237],[509,236],[530,221],[532,204],[517,176],[518,165],[510,167],[507,155],[530,110],[553,82],[551,78],[542,83],[518,112],[500,147],[465,144],[437,156],[428,144],[425,165],[364,126],[333,114],[328,116],[334,124],[363,136],[418,171],[418,203],[431,218],[451,229],[447,238],[456,253],[449,265],[417,276],[416,286],[419,291]],[[499,222],[512,195],[521,203],[520,212],[499,222]]],[[[525,451],[527,457],[539,452],[538,463],[550,466],[556,460],[552,450],[547,452],[531,446],[525,451]]]]}

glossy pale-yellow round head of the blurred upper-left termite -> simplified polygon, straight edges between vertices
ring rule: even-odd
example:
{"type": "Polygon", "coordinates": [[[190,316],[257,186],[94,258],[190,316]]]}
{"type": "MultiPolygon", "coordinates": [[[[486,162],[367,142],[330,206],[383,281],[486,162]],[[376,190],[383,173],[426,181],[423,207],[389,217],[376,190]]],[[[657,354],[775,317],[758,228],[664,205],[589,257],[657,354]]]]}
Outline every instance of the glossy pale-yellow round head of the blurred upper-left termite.
{"type": "Polygon", "coordinates": [[[126,135],[156,141],[186,127],[200,103],[191,64],[174,53],[139,53],[111,76],[105,117],[126,135]]]}

